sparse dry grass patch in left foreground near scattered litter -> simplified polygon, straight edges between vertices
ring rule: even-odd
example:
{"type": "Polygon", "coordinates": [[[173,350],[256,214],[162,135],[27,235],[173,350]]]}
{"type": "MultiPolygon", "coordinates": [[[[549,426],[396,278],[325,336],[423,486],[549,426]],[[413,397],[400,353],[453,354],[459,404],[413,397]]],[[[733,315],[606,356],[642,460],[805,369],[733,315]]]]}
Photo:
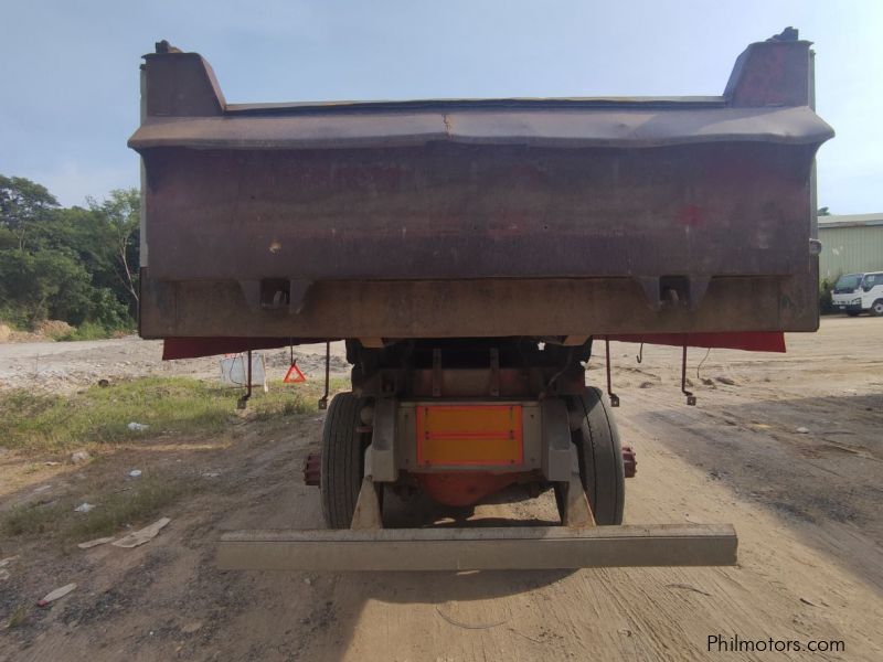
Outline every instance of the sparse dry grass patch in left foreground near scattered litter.
{"type": "Polygon", "coordinates": [[[130,490],[86,494],[46,503],[12,509],[0,521],[0,531],[8,536],[46,536],[62,542],[82,543],[89,538],[120,533],[126,524],[137,525],[162,514],[163,509],[199,483],[182,479],[146,477],[130,490]],[[88,501],[95,509],[77,513],[77,501],[88,501]]]}

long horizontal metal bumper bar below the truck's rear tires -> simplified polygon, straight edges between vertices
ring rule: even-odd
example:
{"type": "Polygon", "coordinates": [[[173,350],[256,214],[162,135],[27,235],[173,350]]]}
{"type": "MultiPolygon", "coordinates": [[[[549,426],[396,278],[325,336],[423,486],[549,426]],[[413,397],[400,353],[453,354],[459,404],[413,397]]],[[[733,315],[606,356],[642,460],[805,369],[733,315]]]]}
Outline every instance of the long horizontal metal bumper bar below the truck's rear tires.
{"type": "Polygon", "coordinates": [[[728,524],[236,531],[222,570],[514,570],[736,563],[728,524]]]}

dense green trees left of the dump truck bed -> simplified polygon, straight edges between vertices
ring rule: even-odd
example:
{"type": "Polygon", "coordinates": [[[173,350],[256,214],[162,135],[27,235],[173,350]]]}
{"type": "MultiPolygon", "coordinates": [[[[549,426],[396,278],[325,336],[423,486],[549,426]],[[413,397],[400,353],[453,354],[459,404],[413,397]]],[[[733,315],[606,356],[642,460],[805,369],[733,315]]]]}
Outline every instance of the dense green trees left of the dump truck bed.
{"type": "Polygon", "coordinates": [[[0,317],[129,327],[138,310],[139,193],[61,207],[46,189],[0,175],[0,317]]]}

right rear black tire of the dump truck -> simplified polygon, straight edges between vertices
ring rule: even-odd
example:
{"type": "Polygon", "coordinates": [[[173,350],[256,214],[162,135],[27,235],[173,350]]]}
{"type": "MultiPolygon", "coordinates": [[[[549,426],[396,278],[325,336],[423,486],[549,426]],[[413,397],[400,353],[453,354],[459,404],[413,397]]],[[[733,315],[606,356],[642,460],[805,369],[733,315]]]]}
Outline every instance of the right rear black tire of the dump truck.
{"type": "Polygon", "coordinates": [[[613,413],[599,388],[589,387],[571,403],[584,414],[583,425],[573,433],[579,458],[579,478],[599,526],[621,524],[626,501],[623,447],[613,413]]]}

